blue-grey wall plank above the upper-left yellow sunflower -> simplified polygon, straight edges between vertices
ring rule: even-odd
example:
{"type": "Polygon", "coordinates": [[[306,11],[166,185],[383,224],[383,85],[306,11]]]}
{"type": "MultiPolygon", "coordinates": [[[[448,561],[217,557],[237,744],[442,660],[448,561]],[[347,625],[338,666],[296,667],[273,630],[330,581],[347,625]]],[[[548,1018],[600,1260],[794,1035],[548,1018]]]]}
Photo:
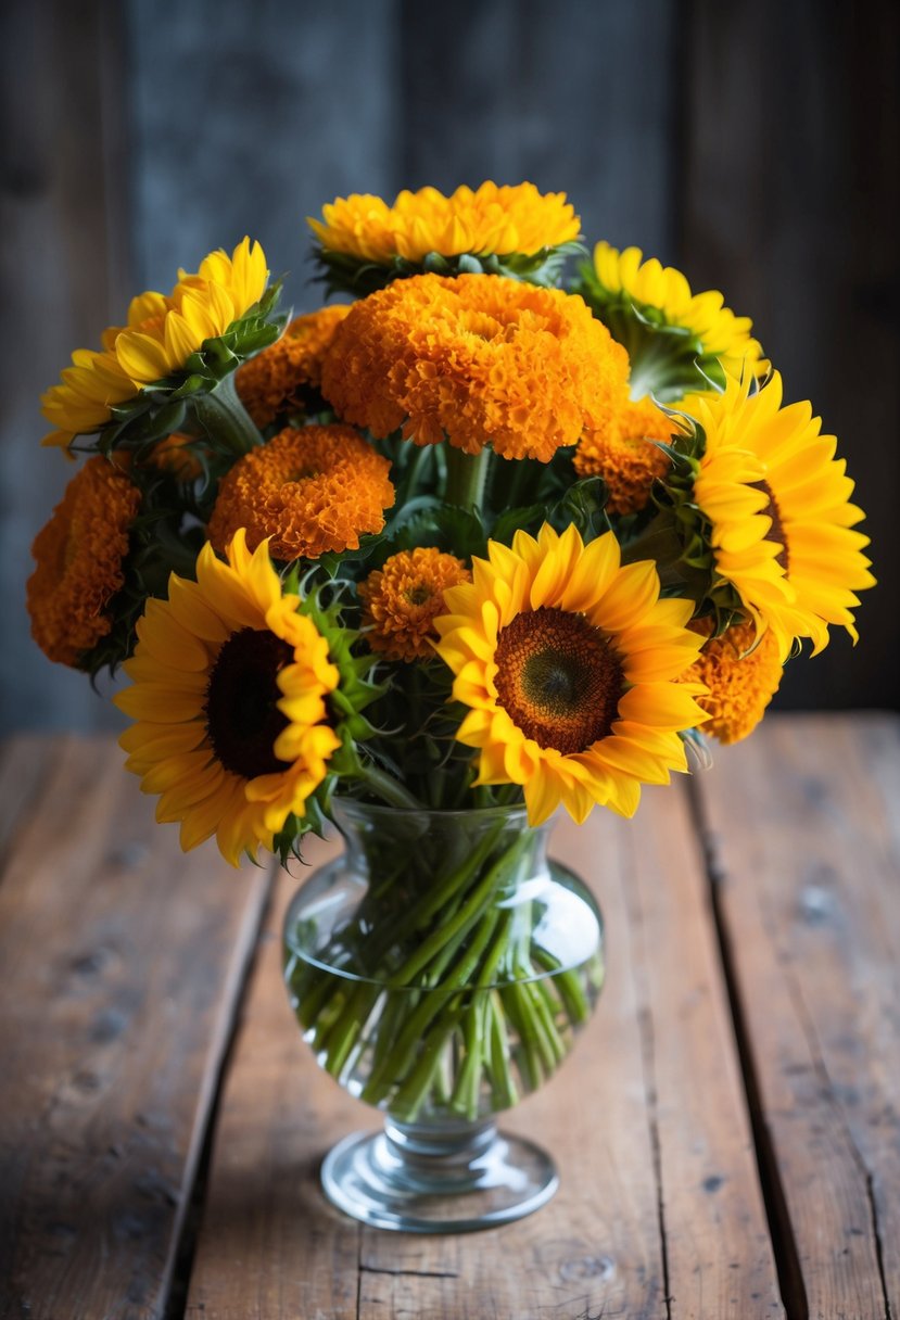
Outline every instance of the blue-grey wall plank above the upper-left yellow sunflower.
{"type": "Polygon", "coordinates": [[[286,306],[321,306],[305,218],[395,186],[397,0],[124,8],[143,286],[249,234],[286,273],[286,306]]]}

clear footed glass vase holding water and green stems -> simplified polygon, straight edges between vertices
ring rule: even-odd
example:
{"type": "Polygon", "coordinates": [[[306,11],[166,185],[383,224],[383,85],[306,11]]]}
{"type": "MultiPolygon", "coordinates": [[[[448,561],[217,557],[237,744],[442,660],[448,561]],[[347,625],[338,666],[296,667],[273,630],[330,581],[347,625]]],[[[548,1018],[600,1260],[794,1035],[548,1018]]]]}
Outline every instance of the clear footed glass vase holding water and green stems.
{"type": "Polygon", "coordinates": [[[326,1158],[322,1184],[379,1228],[467,1232],[557,1188],[552,1158],[499,1113],[569,1056],[603,985],[589,890],[523,807],[334,803],[346,851],[285,919],[285,979],[315,1057],[385,1115],[326,1158]]]}

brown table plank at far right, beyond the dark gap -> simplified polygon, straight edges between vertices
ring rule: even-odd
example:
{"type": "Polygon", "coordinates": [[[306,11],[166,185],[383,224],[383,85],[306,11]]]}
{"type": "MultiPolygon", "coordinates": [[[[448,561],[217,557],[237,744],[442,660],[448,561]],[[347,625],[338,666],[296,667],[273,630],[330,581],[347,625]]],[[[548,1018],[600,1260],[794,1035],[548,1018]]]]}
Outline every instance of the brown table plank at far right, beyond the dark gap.
{"type": "Polygon", "coordinates": [[[900,1313],[899,733],[896,717],[772,717],[698,784],[761,1121],[822,1320],[900,1313]]]}

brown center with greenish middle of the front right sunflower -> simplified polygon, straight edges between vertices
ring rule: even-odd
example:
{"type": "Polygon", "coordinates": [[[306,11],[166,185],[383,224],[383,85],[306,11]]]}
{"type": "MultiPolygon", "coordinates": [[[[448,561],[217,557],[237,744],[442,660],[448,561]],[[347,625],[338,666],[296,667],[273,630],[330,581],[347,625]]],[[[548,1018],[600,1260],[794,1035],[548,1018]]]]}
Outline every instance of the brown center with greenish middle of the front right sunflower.
{"type": "Polygon", "coordinates": [[[606,738],[619,714],[622,664],[581,614],[541,606],[500,630],[500,705],[538,747],[569,755],[606,738]]]}

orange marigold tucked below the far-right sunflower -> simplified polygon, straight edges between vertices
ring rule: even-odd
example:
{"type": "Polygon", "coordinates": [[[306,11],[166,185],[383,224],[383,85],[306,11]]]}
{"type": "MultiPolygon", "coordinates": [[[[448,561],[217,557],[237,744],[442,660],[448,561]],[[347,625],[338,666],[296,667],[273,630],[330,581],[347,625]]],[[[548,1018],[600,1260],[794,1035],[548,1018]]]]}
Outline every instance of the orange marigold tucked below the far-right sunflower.
{"type": "Polygon", "coordinates": [[[735,624],[721,638],[710,638],[709,619],[697,619],[690,628],[710,639],[684,675],[685,681],[709,689],[697,697],[697,705],[710,717],[703,733],[721,743],[740,742],[752,734],[779,690],[784,669],[777,638],[769,628],[757,640],[752,623],[735,624]]]}

